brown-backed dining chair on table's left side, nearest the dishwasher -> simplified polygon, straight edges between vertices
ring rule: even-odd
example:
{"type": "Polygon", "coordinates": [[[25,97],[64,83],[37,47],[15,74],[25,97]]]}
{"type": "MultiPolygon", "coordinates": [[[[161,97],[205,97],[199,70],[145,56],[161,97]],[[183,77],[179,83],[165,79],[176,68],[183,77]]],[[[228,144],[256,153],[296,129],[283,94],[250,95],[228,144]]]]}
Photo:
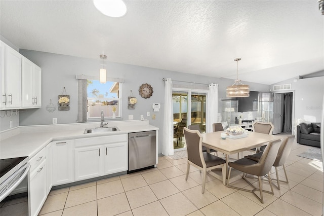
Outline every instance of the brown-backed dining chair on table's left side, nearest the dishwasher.
{"type": "Polygon", "coordinates": [[[188,179],[190,165],[201,170],[203,172],[203,189],[201,193],[204,194],[207,172],[215,168],[222,168],[222,179],[225,185],[226,161],[208,152],[203,152],[203,136],[201,136],[199,131],[189,130],[184,127],[183,133],[186,139],[188,152],[186,181],[188,179]]]}

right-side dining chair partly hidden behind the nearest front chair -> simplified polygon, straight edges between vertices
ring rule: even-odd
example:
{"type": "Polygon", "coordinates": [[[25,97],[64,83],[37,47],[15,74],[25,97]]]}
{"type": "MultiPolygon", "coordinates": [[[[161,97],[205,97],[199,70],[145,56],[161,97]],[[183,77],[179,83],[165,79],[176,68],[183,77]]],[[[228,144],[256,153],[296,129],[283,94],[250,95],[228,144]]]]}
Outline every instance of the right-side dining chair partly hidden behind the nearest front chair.
{"type": "MultiPolygon", "coordinates": [[[[285,168],[285,163],[286,163],[286,160],[287,160],[287,158],[288,158],[288,156],[290,154],[290,151],[292,149],[294,139],[295,139],[295,135],[290,135],[288,137],[283,138],[281,146],[280,146],[278,154],[277,154],[277,157],[276,157],[276,159],[275,159],[275,161],[273,163],[273,166],[275,168],[275,173],[276,173],[276,179],[272,179],[272,180],[277,181],[277,185],[274,185],[274,186],[276,186],[276,188],[279,189],[279,190],[280,190],[279,182],[289,183],[286,168],[285,168]],[[279,179],[279,174],[278,174],[278,167],[279,166],[282,166],[282,168],[284,169],[286,181],[282,181],[282,180],[279,179]]],[[[245,157],[249,158],[249,159],[252,159],[252,160],[255,160],[255,161],[259,161],[261,156],[262,156],[262,152],[259,152],[259,153],[254,154],[254,155],[248,155],[248,156],[245,156],[245,157]]]]}

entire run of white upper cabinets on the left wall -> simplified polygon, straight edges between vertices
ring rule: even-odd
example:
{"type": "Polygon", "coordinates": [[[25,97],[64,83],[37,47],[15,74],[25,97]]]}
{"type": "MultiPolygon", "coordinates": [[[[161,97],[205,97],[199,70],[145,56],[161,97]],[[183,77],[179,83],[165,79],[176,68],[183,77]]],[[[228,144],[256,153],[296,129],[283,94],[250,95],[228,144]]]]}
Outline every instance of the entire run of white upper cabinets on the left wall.
{"type": "Polygon", "coordinates": [[[0,110],[42,105],[42,69],[0,41],[0,110]]]}

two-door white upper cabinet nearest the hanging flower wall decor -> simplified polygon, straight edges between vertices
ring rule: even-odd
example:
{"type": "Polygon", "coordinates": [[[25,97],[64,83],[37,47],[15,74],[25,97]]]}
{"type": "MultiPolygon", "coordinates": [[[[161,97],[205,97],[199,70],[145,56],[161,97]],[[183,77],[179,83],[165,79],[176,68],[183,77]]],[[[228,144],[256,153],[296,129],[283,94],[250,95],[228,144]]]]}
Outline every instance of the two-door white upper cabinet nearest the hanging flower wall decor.
{"type": "Polygon", "coordinates": [[[42,105],[42,69],[22,57],[22,107],[42,105]]]}

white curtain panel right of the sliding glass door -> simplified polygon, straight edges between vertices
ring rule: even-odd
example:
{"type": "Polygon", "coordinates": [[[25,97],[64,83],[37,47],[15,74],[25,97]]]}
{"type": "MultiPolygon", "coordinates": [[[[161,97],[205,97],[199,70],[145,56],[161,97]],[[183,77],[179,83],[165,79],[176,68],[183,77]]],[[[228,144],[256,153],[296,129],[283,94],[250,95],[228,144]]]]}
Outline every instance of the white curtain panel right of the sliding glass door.
{"type": "Polygon", "coordinates": [[[218,122],[218,84],[209,84],[206,116],[206,133],[210,133],[213,132],[213,124],[218,122]]]}

